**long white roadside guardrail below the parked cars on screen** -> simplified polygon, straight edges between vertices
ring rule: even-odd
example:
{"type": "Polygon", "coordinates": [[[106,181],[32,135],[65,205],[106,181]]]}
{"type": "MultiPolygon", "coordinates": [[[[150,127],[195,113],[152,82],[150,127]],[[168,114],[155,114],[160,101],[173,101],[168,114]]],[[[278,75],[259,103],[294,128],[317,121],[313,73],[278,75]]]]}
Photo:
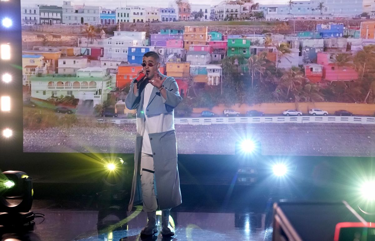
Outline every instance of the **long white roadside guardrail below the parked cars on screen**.
{"type": "MultiPolygon", "coordinates": [[[[114,124],[136,123],[136,119],[97,119],[98,122],[114,124]]],[[[236,124],[236,123],[350,123],[350,124],[375,124],[375,117],[366,116],[296,116],[296,117],[197,117],[175,118],[177,125],[210,125],[210,124],[236,124]]]]}

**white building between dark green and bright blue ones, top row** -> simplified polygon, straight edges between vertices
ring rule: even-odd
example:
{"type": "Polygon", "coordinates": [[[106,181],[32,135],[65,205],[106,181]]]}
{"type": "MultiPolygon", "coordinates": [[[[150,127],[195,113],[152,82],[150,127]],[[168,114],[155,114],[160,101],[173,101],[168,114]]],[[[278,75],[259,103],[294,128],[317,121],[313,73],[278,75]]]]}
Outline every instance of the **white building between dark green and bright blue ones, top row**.
{"type": "Polygon", "coordinates": [[[71,1],[63,1],[63,23],[100,24],[99,6],[75,6],[71,1]]]}

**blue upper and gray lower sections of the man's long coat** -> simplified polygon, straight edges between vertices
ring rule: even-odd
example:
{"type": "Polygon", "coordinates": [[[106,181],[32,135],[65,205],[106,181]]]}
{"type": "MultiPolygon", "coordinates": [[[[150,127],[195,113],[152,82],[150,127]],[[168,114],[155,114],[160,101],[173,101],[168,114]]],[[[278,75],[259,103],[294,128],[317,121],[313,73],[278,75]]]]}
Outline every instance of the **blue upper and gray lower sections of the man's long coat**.
{"type": "MultiPolygon", "coordinates": [[[[162,78],[167,77],[162,74],[160,75],[162,78]]],[[[182,100],[178,92],[177,82],[173,77],[167,77],[163,82],[167,98],[164,99],[157,88],[154,87],[147,108],[143,110],[144,85],[138,83],[138,93],[135,95],[133,93],[133,81],[130,84],[130,90],[129,94],[126,96],[125,105],[128,109],[137,110],[137,118],[144,118],[144,113],[149,115],[171,112],[182,100]]],[[[133,205],[142,202],[141,176],[139,171],[141,166],[143,138],[146,137],[137,134],[135,141],[134,174],[128,207],[129,212],[132,210],[133,205]]],[[[182,201],[177,168],[177,141],[175,131],[170,130],[161,133],[150,133],[147,138],[150,138],[151,150],[153,152],[155,186],[159,208],[163,210],[176,207],[180,205],[182,201]]]]}

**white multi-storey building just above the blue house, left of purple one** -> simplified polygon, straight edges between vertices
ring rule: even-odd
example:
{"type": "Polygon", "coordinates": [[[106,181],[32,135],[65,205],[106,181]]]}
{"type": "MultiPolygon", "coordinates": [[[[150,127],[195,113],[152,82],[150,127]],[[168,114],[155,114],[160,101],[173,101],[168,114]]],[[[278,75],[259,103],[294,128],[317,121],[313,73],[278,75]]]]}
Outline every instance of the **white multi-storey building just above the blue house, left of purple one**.
{"type": "MultiPolygon", "coordinates": [[[[103,61],[127,61],[127,50],[133,46],[146,46],[146,32],[114,31],[114,36],[103,40],[103,61]]],[[[104,62],[103,62],[104,63],[104,62]]]]}

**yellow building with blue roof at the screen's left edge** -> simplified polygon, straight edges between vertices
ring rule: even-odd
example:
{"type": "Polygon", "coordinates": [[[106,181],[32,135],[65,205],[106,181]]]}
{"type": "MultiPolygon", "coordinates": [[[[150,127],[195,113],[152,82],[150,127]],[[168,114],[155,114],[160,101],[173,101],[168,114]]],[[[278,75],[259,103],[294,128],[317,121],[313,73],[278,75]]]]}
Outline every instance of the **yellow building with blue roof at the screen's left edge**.
{"type": "Polygon", "coordinates": [[[38,73],[46,74],[49,62],[45,61],[42,55],[22,55],[22,84],[30,84],[30,76],[38,73]]]}

